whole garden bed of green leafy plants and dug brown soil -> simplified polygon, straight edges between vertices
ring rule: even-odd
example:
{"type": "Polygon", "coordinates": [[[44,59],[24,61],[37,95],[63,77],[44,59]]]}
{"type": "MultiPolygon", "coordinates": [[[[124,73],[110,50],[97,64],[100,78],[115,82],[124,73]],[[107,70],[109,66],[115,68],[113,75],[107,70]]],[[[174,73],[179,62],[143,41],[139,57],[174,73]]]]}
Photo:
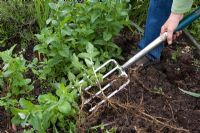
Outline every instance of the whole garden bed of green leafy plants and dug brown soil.
{"type": "MultiPolygon", "coordinates": [[[[164,49],[160,63],[132,66],[130,84],[95,112],[82,109],[89,93],[77,94],[101,79],[93,70],[134,55],[142,29],[129,24],[142,25],[147,6],[133,0],[1,1],[0,133],[200,132],[200,100],[180,90],[200,92],[200,55],[185,36],[164,49]]],[[[195,36],[199,23],[193,24],[188,29],[195,36]]],[[[106,82],[111,79],[121,82],[105,94],[126,80],[111,76],[106,82]]]]}

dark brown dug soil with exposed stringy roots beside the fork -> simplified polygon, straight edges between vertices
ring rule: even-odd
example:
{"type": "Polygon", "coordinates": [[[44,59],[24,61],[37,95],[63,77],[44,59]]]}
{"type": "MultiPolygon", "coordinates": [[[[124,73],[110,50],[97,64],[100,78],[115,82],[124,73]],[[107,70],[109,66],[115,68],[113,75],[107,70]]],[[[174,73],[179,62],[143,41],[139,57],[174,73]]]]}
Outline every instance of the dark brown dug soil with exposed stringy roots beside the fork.
{"type": "MultiPolygon", "coordinates": [[[[126,36],[117,42],[127,60],[135,42],[126,36]]],[[[86,113],[78,131],[199,133],[200,99],[180,91],[200,92],[200,68],[194,63],[200,55],[190,44],[182,36],[164,49],[159,63],[132,66],[129,85],[91,114],[86,113]]]]}

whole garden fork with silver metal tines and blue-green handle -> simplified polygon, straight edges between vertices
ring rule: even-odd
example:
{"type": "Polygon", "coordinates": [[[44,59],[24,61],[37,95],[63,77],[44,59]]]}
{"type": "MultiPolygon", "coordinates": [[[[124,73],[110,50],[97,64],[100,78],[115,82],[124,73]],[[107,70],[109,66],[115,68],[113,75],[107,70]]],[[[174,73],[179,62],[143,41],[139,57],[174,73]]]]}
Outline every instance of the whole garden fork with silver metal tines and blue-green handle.
{"type": "MultiPolygon", "coordinates": [[[[194,20],[198,19],[200,17],[200,7],[198,7],[195,11],[184,17],[184,19],[180,22],[178,27],[176,28],[175,32],[180,31],[184,29],[186,26],[190,25],[194,20]]],[[[120,66],[116,60],[110,59],[107,62],[105,62],[103,65],[101,65],[99,68],[95,70],[95,73],[98,73],[101,69],[105,68],[106,66],[109,66],[110,64],[114,64],[114,68],[111,69],[109,72],[107,72],[105,75],[103,75],[103,79],[109,77],[111,74],[116,73],[118,71],[119,77],[124,77],[126,80],[123,81],[124,83],[119,86],[116,90],[109,93],[108,95],[104,95],[104,92],[110,88],[114,82],[118,82],[118,79],[114,79],[108,84],[106,84],[104,87],[101,87],[98,92],[93,94],[89,99],[86,99],[84,101],[84,105],[90,105],[90,102],[96,98],[99,97],[99,95],[104,95],[104,99],[95,104],[94,106],[91,105],[89,108],[89,112],[95,110],[99,105],[106,102],[108,99],[110,99],[112,96],[114,96],[117,92],[121,91],[123,88],[125,88],[129,83],[130,79],[128,78],[127,73],[125,70],[129,68],[132,64],[137,62],[139,59],[141,59],[143,56],[145,56],[147,53],[149,53],[151,50],[153,50],[155,47],[157,47],[160,43],[164,42],[167,39],[167,32],[160,35],[158,38],[156,38],[153,42],[151,42],[149,45],[147,45],[144,49],[142,49],[140,52],[138,52],[136,55],[134,55],[132,58],[130,58],[127,62],[125,62],[122,66],[120,66]]],[[[80,83],[83,81],[80,81],[80,83]]],[[[85,91],[89,91],[92,89],[92,86],[88,86],[85,88],[85,91]]]]}

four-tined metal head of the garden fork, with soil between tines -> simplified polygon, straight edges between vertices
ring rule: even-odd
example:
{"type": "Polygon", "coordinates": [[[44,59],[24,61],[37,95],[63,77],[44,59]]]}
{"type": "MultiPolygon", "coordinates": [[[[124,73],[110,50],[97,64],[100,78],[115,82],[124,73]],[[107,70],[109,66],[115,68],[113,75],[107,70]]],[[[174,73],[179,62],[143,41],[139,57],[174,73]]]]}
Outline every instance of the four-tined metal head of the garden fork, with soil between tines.
{"type": "Polygon", "coordinates": [[[94,111],[101,104],[105,103],[108,99],[110,99],[116,93],[118,93],[123,88],[125,88],[130,82],[125,70],[114,59],[110,59],[107,62],[105,62],[103,65],[98,67],[95,70],[95,73],[98,73],[101,69],[110,65],[114,65],[114,66],[110,71],[108,71],[107,73],[103,75],[103,80],[107,79],[108,77],[115,76],[113,80],[111,79],[111,81],[107,82],[106,84],[99,86],[98,91],[96,91],[97,87],[94,87],[94,86],[88,86],[84,89],[86,93],[90,94],[89,98],[86,98],[86,100],[84,101],[84,105],[88,106],[89,112],[94,111]],[[119,81],[120,81],[120,84],[119,84],[119,81]],[[118,85],[116,85],[116,83],[118,85]],[[92,103],[92,102],[95,102],[95,103],[92,103]]]}

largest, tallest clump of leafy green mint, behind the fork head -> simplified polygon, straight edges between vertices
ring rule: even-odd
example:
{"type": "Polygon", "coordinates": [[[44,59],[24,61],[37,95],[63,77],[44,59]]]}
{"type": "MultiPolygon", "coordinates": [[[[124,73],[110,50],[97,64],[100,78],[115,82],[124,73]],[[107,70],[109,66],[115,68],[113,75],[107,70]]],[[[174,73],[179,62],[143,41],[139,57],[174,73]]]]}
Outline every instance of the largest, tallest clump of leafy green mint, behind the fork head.
{"type": "Polygon", "coordinates": [[[82,78],[87,67],[120,56],[112,39],[129,23],[125,1],[59,1],[49,6],[48,26],[37,34],[41,44],[35,47],[44,56],[41,78],[82,78]]]}

